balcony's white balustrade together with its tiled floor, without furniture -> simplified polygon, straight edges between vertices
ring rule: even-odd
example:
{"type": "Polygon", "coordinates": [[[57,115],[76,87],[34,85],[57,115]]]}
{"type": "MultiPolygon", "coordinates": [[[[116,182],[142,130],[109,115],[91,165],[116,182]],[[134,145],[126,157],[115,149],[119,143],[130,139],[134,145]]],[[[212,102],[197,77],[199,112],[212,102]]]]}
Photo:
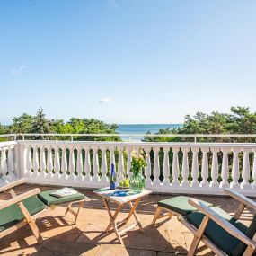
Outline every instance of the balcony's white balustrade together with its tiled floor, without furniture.
{"type": "MultiPolygon", "coordinates": [[[[1,239],[1,255],[186,255],[192,234],[173,217],[151,225],[156,202],[172,194],[190,194],[223,207],[234,215],[238,207],[234,199],[218,197],[224,188],[233,188],[255,197],[255,144],[250,143],[146,143],[95,142],[60,140],[13,140],[0,143],[0,186],[9,181],[28,178],[29,184],[18,187],[18,193],[40,188],[72,186],[92,201],[86,203],[72,225],[64,217],[64,207],[57,207],[50,216],[37,221],[45,241],[37,245],[31,230],[21,230],[1,239]],[[137,214],[145,228],[124,236],[119,245],[114,234],[102,235],[108,216],[102,200],[93,189],[109,185],[110,164],[119,176],[130,173],[132,151],[144,150],[147,167],[146,188],[154,193],[142,200],[137,214]],[[4,254],[5,253],[5,254],[4,254]],[[84,254],[83,254],[84,253],[84,254]],[[144,253],[144,254],[143,254],[144,253]]],[[[6,194],[0,200],[7,199],[6,194]]],[[[125,208],[122,217],[128,209],[125,208]]],[[[242,220],[252,221],[254,212],[246,210],[242,220]]],[[[201,246],[198,255],[211,255],[201,246]]]]}

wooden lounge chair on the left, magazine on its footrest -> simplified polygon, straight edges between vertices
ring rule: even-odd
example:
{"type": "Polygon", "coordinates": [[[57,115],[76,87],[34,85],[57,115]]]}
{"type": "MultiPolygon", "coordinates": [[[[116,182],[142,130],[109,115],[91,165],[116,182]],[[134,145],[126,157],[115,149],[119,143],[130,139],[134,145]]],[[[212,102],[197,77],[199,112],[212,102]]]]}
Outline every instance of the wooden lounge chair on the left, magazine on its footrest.
{"type": "Polygon", "coordinates": [[[0,187],[0,193],[8,192],[12,195],[12,199],[0,202],[0,238],[28,224],[38,243],[41,243],[42,237],[35,224],[35,219],[44,216],[48,211],[54,209],[56,205],[68,203],[65,215],[68,212],[74,215],[76,224],[79,211],[81,207],[84,207],[84,202],[90,201],[81,193],[57,199],[50,196],[50,193],[54,190],[40,192],[40,189],[33,189],[17,196],[13,187],[27,181],[27,179],[21,179],[0,187]],[[76,212],[72,208],[74,203],[79,204],[76,212]]]}

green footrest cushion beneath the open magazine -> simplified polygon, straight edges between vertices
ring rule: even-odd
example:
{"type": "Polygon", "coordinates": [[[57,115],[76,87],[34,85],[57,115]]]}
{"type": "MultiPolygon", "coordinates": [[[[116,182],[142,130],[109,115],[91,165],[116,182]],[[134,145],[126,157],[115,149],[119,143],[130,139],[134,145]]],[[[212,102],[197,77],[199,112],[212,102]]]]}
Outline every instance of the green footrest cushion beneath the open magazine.
{"type": "MultiPolygon", "coordinates": [[[[72,188],[70,188],[70,189],[72,189],[72,188]]],[[[72,189],[72,190],[74,190],[74,189],[72,189]]],[[[42,192],[40,192],[38,197],[47,206],[58,205],[58,204],[61,204],[61,203],[72,202],[72,201],[81,200],[81,199],[85,198],[84,194],[81,194],[81,193],[78,193],[78,192],[75,195],[66,196],[66,197],[63,197],[63,198],[56,198],[56,197],[53,197],[53,196],[50,195],[50,193],[52,193],[53,191],[56,191],[56,190],[42,191],[42,192]]]]}

